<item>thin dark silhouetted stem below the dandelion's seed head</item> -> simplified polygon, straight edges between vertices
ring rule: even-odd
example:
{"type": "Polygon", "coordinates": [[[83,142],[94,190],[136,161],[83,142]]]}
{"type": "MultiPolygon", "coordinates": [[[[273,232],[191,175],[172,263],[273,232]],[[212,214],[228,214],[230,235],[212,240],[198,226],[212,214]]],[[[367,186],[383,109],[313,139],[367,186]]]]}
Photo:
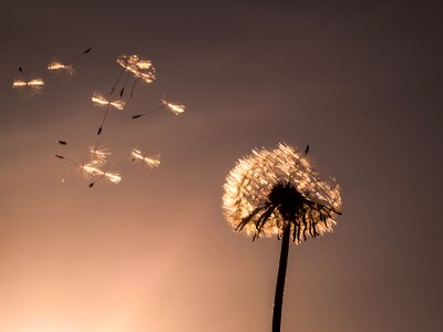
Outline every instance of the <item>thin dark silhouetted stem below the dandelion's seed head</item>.
{"type": "Polygon", "coordinates": [[[284,305],[286,267],[288,266],[290,228],[285,228],[281,238],[280,262],[278,263],[276,295],[274,298],[272,332],[280,332],[281,309],[284,305]]]}

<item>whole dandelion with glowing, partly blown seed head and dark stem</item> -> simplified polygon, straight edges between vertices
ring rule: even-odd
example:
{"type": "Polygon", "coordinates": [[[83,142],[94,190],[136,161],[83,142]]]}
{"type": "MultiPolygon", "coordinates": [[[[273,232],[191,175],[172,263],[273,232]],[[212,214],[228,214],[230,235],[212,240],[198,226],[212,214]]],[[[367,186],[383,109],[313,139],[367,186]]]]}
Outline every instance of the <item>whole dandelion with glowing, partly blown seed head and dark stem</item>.
{"type": "Polygon", "coordinates": [[[341,215],[340,187],[313,169],[306,153],[280,144],[274,151],[253,151],[239,159],[224,185],[223,208],[235,230],[253,240],[276,236],[281,252],[274,302],[272,332],[280,331],[289,241],[332,231],[341,215]]]}

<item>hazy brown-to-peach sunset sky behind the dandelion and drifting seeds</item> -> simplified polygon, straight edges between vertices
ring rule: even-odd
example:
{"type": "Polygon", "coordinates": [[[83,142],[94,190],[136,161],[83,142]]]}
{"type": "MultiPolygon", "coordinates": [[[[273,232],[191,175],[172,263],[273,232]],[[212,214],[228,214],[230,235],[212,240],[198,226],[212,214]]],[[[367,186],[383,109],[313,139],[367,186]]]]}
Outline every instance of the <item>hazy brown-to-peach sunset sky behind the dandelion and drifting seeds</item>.
{"type": "Polygon", "coordinates": [[[282,331],[441,331],[440,2],[91,2],[1,9],[0,331],[270,331],[280,242],[233,232],[222,195],[280,142],[343,195],[332,235],[290,247],[282,331]],[[89,46],[72,79],[47,72],[89,46]],[[158,79],[100,136],[122,183],[90,189],[56,141],[97,143],[120,54],[158,79]],[[18,66],[42,95],[11,89],[18,66]],[[186,113],[131,118],[163,93],[186,113]]]}

